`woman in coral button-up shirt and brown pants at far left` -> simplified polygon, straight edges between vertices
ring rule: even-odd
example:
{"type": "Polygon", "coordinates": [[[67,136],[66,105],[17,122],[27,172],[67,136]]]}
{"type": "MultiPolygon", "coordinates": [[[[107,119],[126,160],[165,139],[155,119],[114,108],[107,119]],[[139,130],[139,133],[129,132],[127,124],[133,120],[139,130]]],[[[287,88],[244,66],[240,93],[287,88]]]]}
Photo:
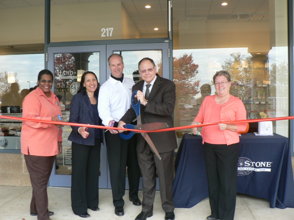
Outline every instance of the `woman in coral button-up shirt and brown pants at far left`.
{"type": "MultiPolygon", "coordinates": [[[[38,75],[38,87],[24,98],[24,118],[60,121],[60,103],[50,91],[52,85],[52,72],[41,70],[38,75]]],[[[48,211],[47,183],[55,155],[62,151],[61,127],[63,125],[31,121],[24,121],[22,124],[21,153],[24,154],[33,188],[30,209],[31,215],[37,215],[38,220],[48,220],[49,215],[54,214],[48,211]]]]}

